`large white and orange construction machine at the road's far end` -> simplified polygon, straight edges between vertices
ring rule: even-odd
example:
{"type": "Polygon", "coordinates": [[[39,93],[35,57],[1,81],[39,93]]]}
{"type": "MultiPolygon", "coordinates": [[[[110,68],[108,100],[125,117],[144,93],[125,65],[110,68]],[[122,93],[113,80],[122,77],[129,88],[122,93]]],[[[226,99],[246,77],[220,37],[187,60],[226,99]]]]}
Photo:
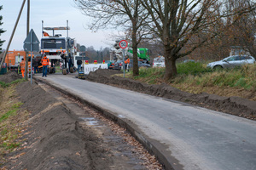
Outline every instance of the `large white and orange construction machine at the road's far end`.
{"type": "Polygon", "coordinates": [[[73,73],[74,55],[76,54],[77,43],[74,38],[68,37],[70,27],[44,27],[42,21],[41,54],[46,54],[50,60],[49,73],[55,73],[55,66],[60,63],[62,74],[66,75],[69,71],[73,73]],[[55,34],[55,31],[67,31],[67,37],[55,34]],[[46,31],[52,31],[52,35],[46,31]]]}

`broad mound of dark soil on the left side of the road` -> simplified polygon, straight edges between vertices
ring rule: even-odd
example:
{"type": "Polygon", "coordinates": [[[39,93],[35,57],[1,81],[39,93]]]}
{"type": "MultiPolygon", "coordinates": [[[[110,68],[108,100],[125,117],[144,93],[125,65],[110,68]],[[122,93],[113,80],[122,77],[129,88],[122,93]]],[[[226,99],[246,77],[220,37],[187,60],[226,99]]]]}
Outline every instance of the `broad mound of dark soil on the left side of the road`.
{"type": "Polygon", "coordinates": [[[36,83],[17,87],[23,107],[32,111],[21,149],[12,153],[9,169],[105,169],[112,160],[90,128],[81,127],[62,102],[36,83]]]}

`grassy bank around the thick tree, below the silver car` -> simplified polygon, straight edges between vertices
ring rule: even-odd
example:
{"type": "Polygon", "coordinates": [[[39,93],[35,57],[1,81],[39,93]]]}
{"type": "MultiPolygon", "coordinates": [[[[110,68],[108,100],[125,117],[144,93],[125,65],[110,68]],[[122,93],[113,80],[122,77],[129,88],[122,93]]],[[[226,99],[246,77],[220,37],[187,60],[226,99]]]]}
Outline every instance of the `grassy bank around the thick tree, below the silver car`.
{"type": "MultiPolygon", "coordinates": [[[[148,84],[160,84],[164,82],[165,69],[141,68],[138,77],[132,77],[132,72],[126,76],[148,84]]],[[[177,64],[177,76],[166,83],[192,94],[206,92],[256,100],[255,95],[253,97],[256,94],[256,65],[213,71],[199,62],[180,63],[177,64]]]]}

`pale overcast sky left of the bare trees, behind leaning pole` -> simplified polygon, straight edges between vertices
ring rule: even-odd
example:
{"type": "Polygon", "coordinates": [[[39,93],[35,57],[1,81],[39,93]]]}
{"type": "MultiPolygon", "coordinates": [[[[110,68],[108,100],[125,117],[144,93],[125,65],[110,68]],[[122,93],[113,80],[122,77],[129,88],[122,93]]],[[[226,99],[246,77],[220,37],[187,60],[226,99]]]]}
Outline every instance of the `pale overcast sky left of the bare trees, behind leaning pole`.
{"type": "MultiPolygon", "coordinates": [[[[108,40],[108,31],[90,31],[88,23],[91,19],[75,8],[73,0],[30,0],[30,2],[30,30],[35,31],[39,41],[42,37],[42,20],[44,20],[45,27],[67,26],[68,20],[68,26],[71,28],[68,32],[69,37],[75,38],[80,45],[84,45],[86,48],[93,46],[96,50],[101,47],[111,48],[112,42],[108,40]]],[[[3,9],[0,10],[0,15],[3,16],[3,25],[0,27],[6,31],[0,37],[2,40],[6,40],[2,46],[3,49],[7,47],[22,3],[23,0],[0,0],[0,6],[3,5],[3,9]]],[[[9,50],[23,49],[23,42],[26,39],[26,11],[27,3],[23,8],[9,50]]],[[[67,31],[55,31],[55,33],[67,36],[67,31]]],[[[49,34],[51,35],[52,32],[50,31],[49,34]]]]}

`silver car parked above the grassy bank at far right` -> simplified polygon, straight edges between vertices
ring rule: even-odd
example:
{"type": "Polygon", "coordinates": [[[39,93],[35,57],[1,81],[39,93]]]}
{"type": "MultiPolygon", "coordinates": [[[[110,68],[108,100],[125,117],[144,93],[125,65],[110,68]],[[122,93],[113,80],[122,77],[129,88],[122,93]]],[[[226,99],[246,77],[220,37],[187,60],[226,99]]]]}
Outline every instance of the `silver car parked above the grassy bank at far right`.
{"type": "Polygon", "coordinates": [[[216,68],[234,68],[241,65],[253,64],[255,59],[252,56],[247,55],[233,55],[225,59],[209,63],[207,67],[212,69],[216,68]]]}

